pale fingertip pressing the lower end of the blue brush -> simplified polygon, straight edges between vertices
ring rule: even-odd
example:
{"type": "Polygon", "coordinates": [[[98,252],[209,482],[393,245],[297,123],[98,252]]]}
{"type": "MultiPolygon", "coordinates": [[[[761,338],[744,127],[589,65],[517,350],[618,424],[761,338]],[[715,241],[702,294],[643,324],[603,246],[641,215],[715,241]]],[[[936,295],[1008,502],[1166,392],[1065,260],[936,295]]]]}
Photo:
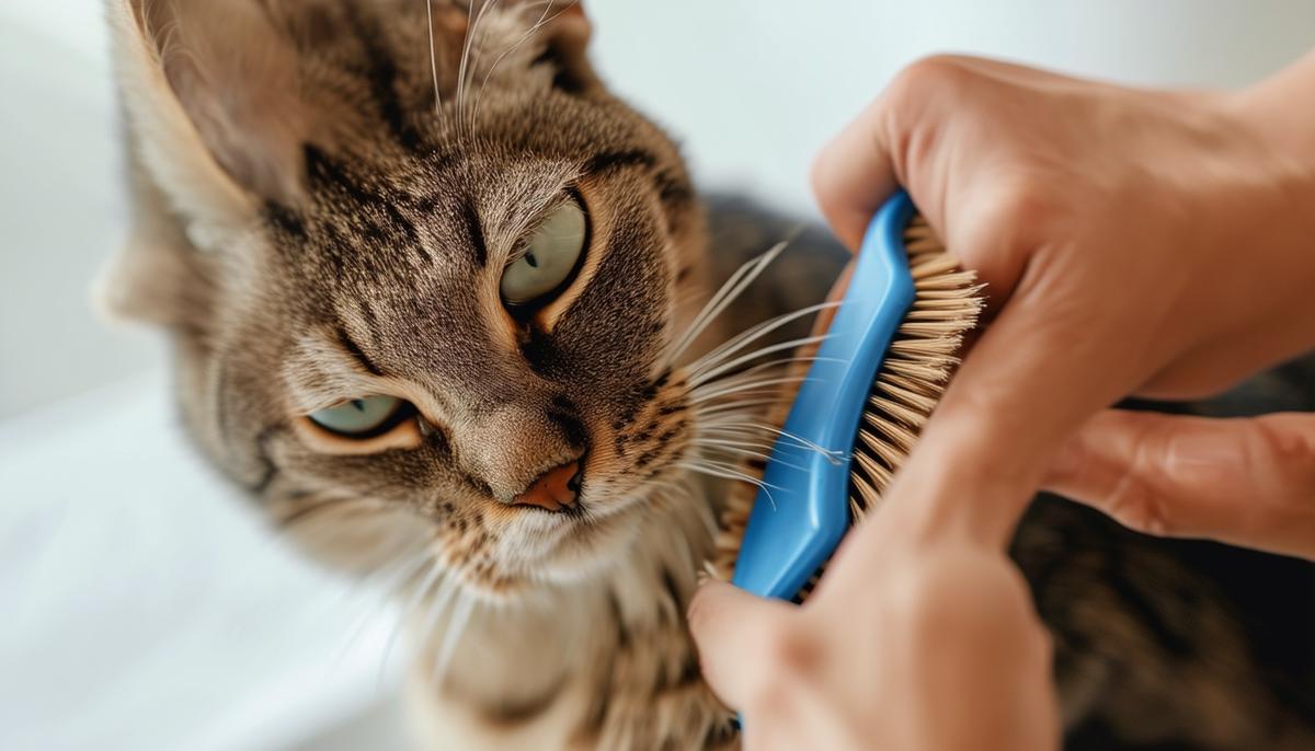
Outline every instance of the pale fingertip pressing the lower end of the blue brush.
{"type": "MultiPolygon", "coordinates": [[[[764,600],[725,582],[700,587],[689,604],[689,630],[704,679],[729,706],[743,709],[764,687],[781,656],[784,621],[796,608],[764,600]]],[[[786,655],[789,656],[789,655],[786,655]]]]}

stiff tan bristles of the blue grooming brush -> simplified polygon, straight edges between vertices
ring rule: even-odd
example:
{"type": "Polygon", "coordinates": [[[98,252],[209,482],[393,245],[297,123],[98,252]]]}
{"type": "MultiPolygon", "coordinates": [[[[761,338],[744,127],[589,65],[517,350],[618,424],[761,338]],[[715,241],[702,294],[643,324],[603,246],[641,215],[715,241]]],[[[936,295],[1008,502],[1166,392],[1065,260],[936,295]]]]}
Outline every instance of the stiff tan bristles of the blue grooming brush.
{"type": "MultiPolygon", "coordinates": [[[[959,365],[964,333],[977,324],[984,305],[977,274],[959,267],[922,217],[905,230],[905,247],[914,302],[890,343],[859,423],[849,462],[849,509],[855,521],[881,502],[913,449],[959,365]]],[[[771,416],[775,424],[784,423],[785,410],[771,416]]],[[[755,495],[756,487],[748,483],[738,483],[729,494],[709,569],[722,579],[730,579],[735,569],[755,495]]],[[[797,599],[807,596],[817,579],[813,576],[797,599]]]]}

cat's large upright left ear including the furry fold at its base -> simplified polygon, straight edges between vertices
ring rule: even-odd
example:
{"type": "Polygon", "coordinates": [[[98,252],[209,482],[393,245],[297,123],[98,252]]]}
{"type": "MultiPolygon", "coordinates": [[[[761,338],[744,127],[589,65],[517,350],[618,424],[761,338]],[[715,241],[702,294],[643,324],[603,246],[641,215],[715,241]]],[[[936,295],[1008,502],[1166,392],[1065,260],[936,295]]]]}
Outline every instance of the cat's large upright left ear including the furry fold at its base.
{"type": "Polygon", "coordinates": [[[109,0],[134,214],[100,310],[205,328],[217,253],[266,202],[301,197],[293,46],[249,0],[109,0]]]}

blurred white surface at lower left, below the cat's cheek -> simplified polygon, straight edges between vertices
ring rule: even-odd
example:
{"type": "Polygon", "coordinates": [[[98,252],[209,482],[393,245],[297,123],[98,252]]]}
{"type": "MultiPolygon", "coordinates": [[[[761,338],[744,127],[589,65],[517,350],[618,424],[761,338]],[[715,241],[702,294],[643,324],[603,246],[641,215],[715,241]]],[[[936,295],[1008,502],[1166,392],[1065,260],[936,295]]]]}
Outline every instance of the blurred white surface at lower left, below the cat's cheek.
{"type": "Polygon", "coordinates": [[[0,427],[0,748],[283,748],[391,698],[379,592],[274,540],[166,394],[0,427]]]}

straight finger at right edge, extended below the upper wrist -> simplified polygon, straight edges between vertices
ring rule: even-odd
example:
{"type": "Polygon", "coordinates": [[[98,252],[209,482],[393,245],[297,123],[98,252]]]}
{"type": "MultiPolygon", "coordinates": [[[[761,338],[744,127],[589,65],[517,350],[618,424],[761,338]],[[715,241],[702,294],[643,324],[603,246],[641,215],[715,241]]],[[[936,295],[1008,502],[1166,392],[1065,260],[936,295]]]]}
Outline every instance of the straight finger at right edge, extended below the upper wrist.
{"type": "Polygon", "coordinates": [[[1315,559],[1315,415],[1207,419],[1107,410],[1047,487],[1149,534],[1315,559]]]}

